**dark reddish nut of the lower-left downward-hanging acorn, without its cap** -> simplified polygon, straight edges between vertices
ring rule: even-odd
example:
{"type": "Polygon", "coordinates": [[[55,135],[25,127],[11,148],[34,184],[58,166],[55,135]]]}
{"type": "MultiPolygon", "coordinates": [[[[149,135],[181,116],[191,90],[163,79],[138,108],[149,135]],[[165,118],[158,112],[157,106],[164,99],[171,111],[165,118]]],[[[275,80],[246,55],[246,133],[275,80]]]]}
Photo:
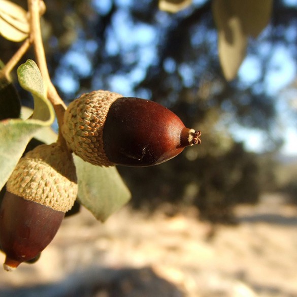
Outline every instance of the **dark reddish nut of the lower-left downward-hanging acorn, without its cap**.
{"type": "Polygon", "coordinates": [[[65,213],[6,192],[0,209],[0,245],[5,270],[37,257],[52,241],[65,213]]]}

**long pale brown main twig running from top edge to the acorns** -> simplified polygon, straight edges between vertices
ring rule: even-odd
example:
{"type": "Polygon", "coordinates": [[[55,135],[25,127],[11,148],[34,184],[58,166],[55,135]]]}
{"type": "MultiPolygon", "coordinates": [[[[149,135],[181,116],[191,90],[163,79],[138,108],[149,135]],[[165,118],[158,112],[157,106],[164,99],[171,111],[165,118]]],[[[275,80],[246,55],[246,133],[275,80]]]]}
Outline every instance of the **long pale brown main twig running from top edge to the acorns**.
{"type": "MultiPolygon", "coordinates": [[[[54,107],[59,127],[63,122],[63,115],[66,110],[66,105],[58,95],[56,88],[54,87],[47,68],[46,56],[41,35],[40,26],[40,0],[28,0],[28,8],[30,13],[30,38],[34,45],[35,56],[37,64],[40,69],[43,81],[45,95],[54,107]]],[[[62,138],[59,131],[59,138],[62,138]]]]}

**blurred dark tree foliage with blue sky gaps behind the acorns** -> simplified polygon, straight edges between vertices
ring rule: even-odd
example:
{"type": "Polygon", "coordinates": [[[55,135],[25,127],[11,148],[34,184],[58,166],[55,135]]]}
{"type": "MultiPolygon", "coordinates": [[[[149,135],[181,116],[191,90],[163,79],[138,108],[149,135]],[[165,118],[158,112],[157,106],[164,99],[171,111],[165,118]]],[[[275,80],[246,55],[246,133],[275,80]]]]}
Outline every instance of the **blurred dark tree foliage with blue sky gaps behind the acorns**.
{"type": "MultiPolygon", "coordinates": [[[[247,55],[257,59],[257,75],[248,82],[243,75],[227,82],[218,59],[211,1],[196,1],[177,14],[159,11],[152,0],[45,3],[48,65],[65,102],[85,91],[110,89],[159,102],[186,126],[202,130],[200,147],[167,163],[119,168],[133,193],[131,205],[149,210],[165,202],[193,205],[204,219],[230,222],[234,205],[258,201],[266,189],[263,173],[269,176],[269,162],[264,169],[262,160],[237,143],[230,131],[235,123],[257,128],[265,131],[267,151],[281,145],[277,94],[266,82],[274,70],[277,46],[289,47],[293,57],[297,54],[292,37],[296,6],[274,1],[270,25],[247,49],[247,55]]],[[[18,46],[1,38],[3,60],[18,46]]],[[[273,178],[271,174],[271,183],[273,178]]]]}

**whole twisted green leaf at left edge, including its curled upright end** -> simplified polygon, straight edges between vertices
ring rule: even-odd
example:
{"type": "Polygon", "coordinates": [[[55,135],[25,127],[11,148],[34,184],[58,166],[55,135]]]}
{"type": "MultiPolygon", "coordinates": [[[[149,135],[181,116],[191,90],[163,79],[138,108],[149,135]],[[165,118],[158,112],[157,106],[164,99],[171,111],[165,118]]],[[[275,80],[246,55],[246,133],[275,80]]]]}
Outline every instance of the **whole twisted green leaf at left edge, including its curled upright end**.
{"type": "Polygon", "coordinates": [[[52,106],[43,97],[40,71],[34,61],[28,60],[18,69],[21,86],[34,96],[34,112],[31,119],[0,121],[0,189],[3,188],[22,156],[26,145],[43,127],[54,121],[52,106]]]}

